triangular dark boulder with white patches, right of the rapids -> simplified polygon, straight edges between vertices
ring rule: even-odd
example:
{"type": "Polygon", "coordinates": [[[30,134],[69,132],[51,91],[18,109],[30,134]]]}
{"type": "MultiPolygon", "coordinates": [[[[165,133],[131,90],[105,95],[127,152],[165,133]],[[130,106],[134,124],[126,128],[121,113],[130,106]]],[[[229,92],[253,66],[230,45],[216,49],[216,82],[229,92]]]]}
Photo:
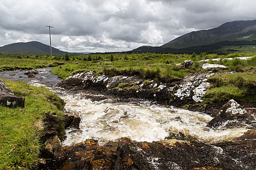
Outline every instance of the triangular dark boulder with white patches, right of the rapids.
{"type": "Polygon", "coordinates": [[[227,127],[256,128],[256,122],[252,115],[233,99],[223,105],[217,117],[208,122],[207,127],[222,129],[227,127]]]}

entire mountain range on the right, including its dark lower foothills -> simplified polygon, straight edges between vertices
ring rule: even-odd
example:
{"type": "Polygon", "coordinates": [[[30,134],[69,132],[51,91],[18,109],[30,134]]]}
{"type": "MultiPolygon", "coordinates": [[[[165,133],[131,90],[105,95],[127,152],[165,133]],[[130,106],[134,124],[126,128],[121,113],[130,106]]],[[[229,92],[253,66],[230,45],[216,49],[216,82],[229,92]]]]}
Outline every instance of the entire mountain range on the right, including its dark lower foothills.
{"type": "Polygon", "coordinates": [[[224,46],[256,45],[256,19],[227,22],[217,28],[193,31],[160,46],[133,51],[216,51],[224,46]]]}

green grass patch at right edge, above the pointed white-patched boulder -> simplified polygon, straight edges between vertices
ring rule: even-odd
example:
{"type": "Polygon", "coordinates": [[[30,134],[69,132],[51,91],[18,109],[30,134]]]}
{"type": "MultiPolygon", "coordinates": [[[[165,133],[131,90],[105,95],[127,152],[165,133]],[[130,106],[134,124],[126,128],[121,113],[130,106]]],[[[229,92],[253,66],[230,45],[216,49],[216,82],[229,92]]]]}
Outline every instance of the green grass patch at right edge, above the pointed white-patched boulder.
{"type": "Polygon", "coordinates": [[[211,86],[204,96],[206,102],[256,102],[256,71],[217,75],[208,82],[211,86]]]}

